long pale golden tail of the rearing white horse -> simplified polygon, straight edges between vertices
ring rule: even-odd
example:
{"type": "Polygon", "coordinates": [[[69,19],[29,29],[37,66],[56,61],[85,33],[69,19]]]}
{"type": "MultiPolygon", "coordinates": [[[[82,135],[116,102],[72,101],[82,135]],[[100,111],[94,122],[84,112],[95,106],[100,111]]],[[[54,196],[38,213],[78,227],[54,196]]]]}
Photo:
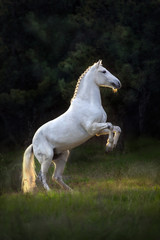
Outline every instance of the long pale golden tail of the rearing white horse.
{"type": "Polygon", "coordinates": [[[33,145],[31,144],[23,156],[23,166],[22,166],[22,191],[32,192],[36,187],[36,172],[33,154],[33,145]]]}

